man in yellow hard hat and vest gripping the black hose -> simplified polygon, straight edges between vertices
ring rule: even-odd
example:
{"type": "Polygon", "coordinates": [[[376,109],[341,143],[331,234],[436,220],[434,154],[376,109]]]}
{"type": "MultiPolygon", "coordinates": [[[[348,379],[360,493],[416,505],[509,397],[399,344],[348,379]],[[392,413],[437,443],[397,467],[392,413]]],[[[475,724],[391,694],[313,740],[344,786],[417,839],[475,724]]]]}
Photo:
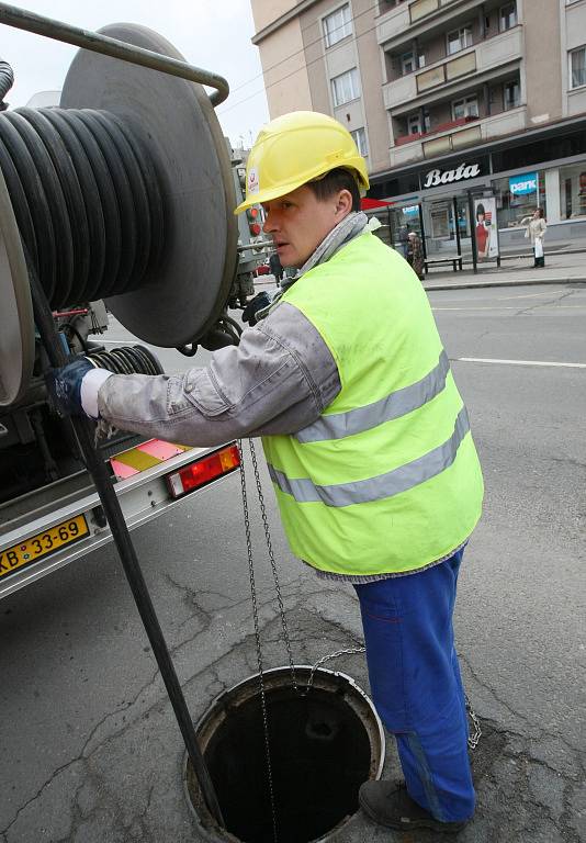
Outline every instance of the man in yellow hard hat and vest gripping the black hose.
{"type": "Polygon", "coordinates": [[[293,553],[356,588],[374,702],[396,737],[405,785],[367,782],[360,805],[394,829],[455,832],[474,788],[452,612],[483,496],[466,409],[417,276],[360,212],[369,180],[347,130],[278,117],[246,183],[236,213],[261,203],[298,272],[240,345],[176,376],[76,362],[53,387],[66,411],[146,436],[262,436],[293,553]]]}

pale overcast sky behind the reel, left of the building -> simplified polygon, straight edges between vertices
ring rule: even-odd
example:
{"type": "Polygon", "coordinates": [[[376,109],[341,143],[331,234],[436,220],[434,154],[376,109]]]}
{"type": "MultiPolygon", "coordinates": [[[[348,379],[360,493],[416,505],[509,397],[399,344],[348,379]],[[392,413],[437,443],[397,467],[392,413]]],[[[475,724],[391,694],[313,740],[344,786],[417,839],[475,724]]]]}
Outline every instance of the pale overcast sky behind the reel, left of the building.
{"type": "MultiPolygon", "coordinates": [[[[16,5],[20,3],[15,2],[16,5]]],[[[269,119],[249,0],[27,0],[21,8],[48,18],[99,30],[131,22],[164,35],[187,61],[228,80],[230,94],[216,109],[233,146],[250,146],[269,119]]],[[[0,24],[0,59],[14,70],[7,97],[25,105],[38,91],[58,90],[77,48],[0,24]]],[[[148,71],[145,71],[148,72],[148,71]]]]}

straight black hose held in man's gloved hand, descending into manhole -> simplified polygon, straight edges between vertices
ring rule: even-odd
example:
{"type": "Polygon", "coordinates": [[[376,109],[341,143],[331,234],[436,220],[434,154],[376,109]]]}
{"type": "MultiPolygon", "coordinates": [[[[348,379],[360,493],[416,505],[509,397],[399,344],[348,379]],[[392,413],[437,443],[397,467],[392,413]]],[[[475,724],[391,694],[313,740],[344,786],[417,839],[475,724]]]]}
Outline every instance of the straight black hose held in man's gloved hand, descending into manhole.
{"type": "MultiPolygon", "coordinates": [[[[36,271],[31,266],[30,261],[29,276],[35,324],[45,346],[49,362],[53,367],[65,366],[67,363],[67,356],[59,342],[59,336],[55,328],[55,323],[53,322],[53,314],[45,296],[45,292],[43,291],[36,271]]],[[[93,425],[89,418],[74,417],[69,420],[77,438],[86,468],[90,472],[95,484],[100,502],[108,518],[110,529],[112,530],[112,538],[116,544],[124,573],[126,574],[136,607],[143,620],[150,645],[153,647],[157,664],[159,665],[165,687],[167,688],[177,722],[181,730],[181,734],[183,735],[183,741],[193,771],[198,777],[198,782],[200,783],[200,787],[202,788],[203,796],[212,816],[221,828],[225,828],[214,785],[198,744],[193,721],[190,717],[185,698],[181,690],[181,685],[177,678],[173,663],[169,655],[169,650],[155,607],[153,606],[153,600],[150,599],[150,594],[145,583],[143,572],[140,571],[140,565],[138,564],[136,551],[132,543],[117,495],[114,492],[106,468],[93,446],[93,425]]]]}

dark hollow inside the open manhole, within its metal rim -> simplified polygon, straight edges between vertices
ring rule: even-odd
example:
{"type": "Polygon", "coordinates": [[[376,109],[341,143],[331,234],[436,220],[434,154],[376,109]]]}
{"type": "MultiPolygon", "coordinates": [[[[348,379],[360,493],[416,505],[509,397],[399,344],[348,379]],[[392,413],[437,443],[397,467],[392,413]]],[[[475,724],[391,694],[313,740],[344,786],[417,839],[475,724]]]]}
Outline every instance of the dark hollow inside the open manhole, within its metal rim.
{"type": "MultiPolygon", "coordinates": [[[[369,778],[369,734],[341,693],[268,688],[279,843],[308,843],[358,810],[369,778]]],[[[228,709],[205,752],[227,831],[272,843],[260,694],[228,709]]]]}

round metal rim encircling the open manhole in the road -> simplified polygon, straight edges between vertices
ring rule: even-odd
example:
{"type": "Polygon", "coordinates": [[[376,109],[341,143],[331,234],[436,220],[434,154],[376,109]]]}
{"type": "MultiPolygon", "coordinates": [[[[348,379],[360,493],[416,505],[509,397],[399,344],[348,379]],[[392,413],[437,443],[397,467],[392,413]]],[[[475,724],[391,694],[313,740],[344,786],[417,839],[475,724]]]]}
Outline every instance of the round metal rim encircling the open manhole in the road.
{"type": "MultiPolygon", "coordinates": [[[[317,675],[339,677],[346,684],[348,684],[353,692],[358,693],[359,697],[362,698],[362,701],[370,709],[370,713],[373,717],[373,721],[375,726],[375,733],[379,737],[380,757],[379,757],[379,763],[376,765],[375,775],[372,778],[372,780],[374,782],[379,780],[381,778],[383,767],[384,767],[384,762],[385,762],[386,741],[385,741],[385,733],[384,733],[384,727],[383,727],[382,720],[379,717],[379,713],[374,707],[374,702],[372,701],[372,699],[360,687],[360,685],[356,682],[356,679],[353,679],[343,671],[331,671],[326,667],[317,667],[314,671],[314,665],[312,664],[295,664],[293,666],[295,671],[309,671],[309,672],[313,671],[314,677],[317,675]]],[[[291,675],[291,666],[288,664],[280,667],[270,667],[269,670],[266,670],[262,672],[263,677],[269,677],[269,678],[274,676],[275,674],[291,675]]],[[[245,679],[237,682],[235,685],[232,685],[226,690],[223,690],[219,694],[217,694],[214,697],[214,699],[210,702],[210,705],[207,706],[203,715],[201,715],[198,721],[194,722],[195,734],[199,735],[199,731],[205,726],[206,720],[210,718],[210,715],[213,711],[214,707],[221,705],[222,700],[225,697],[227,697],[227,695],[232,694],[235,689],[244,685],[247,685],[248,683],[251,683],[252,679],[258,679],[258,673],[250,674],[245,679]]],[[[202,750],[202,752],[205,752],[205,750],[202,750]]],[[[198,831],[203,835],[204,840],[209,841],[209,843],[243,843],[243,841],[239,838],[235,838],[234,834],[232,834],[227,829],[221,829],[215,823],[215,820],[212,818],[211,814],[210,814],[210,823],[204,824],[204,821],[195,810],[195,807],[191,800],[191,795],[188,786],[188,764],[189,764],[189,755],[188,755],[188,752],[185,751],[183,752],[183,756],[182,756],[181,780],[183,785],[183,795],[185,797],[188,808],[195,822],[198,831]]],[[[315,838],[314,840],[309,841],[309,843],[329,843],[329,841],[333,841],[335,836],[337,836],[342,831],[342,829],[346,829],[349,825],[349,823],[356,819],[357,816],[358,816],[358,811],[352,814],[346,816],[333,829],[330,829],[327,832],[327,834],[320,838],[315,838]]]]}

